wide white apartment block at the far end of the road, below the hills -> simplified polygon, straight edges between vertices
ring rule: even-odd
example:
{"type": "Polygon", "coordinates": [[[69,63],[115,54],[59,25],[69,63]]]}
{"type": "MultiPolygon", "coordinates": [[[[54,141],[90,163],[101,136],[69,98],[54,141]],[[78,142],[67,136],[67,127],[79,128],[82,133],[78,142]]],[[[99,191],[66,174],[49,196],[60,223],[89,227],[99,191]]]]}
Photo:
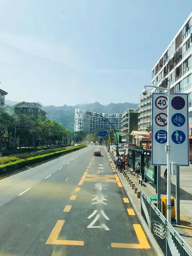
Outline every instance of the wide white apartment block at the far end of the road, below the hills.
{"type": "MultiPolygon", "coordinates": [[[[118,113],[99,113],[99,115],[105,117],[111,122],[116,131],[121,128],[121,116],[118,113]]],[[[101,116],[94,115],[94,113],[81,113],[80,109],[75,109],[74,118],[74,131],[87,131],[89,134],[94,131],[102,130],[112,130],[113,127],[110,123],[101,116]]]]}

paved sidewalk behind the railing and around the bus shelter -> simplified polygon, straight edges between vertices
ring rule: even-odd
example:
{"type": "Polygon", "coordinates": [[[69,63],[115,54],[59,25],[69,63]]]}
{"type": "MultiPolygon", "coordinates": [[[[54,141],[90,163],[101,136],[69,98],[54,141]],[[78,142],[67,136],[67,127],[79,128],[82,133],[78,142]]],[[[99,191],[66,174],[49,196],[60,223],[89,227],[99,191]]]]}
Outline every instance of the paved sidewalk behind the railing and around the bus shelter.
{"type": "MultiPolygon", "coordinates": [[[[166,167],[161,166],[161,198],[166,196],[166,190],[164,185],[164,171],[166,167]]],[[[119,173],[119,176],[122,178],[123,183],[126,183],[124,176],[119,173]]],[[[143,186],[139,184],[139,180],[136,180],[136,175],[128,174],[131,180],[134,181],[135,186],[139,190],[142,190],[148,198],[151,196],[156,196],[155,193],[155,185],[151,183],[144,183],[143,186]]],[[[172,196],[175,198],[175,190],[176,190],[176,177],[172,176],[172,196]]],[[[133,190],[129,187],[130,192],[133,193],[133,190]]],[[[133,196],[136,195],[133,193],[133,196]]],[[[137,199],[140,202],[140,199],[137,199]]],[[[176,202],[175,202],[176,206],[176,202]]],[[[177,232],[180,236],[192,247],[192,166],[180,167],[180,220],[181,225],[173,224],[177,232]]]]}

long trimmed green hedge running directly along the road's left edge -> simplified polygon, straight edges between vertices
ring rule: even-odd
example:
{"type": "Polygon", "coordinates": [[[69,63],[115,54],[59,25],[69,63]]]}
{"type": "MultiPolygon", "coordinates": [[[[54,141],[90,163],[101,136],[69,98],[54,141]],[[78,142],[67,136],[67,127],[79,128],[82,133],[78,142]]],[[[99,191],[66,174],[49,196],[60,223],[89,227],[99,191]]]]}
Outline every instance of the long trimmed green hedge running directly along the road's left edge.
{"type": "Polygon", "coordinates": [[[11,162],[11,163],[6,163],[3,165],[0,165],[0,175],[4,175],[7,174],[9,172],[13,172],[17,169],[21,169],[24,168],[26,166],[30,166],[33,165],[35,163],[41,163],[45,160],[49,160],[53,157],[58,157],[61,156],[63,154],[67,154],[71,151],[76,151],[80,148],[84,148],[85,145],[81,145],[81,146],[75,146],[75,147],[70,147],[70,148],[66,148],[64,150],[61,151],[56,151],[56,152],[52,152],[52,153],[48,153],[48,154],[43,154],[43,155],[38,155],[35,157],[29,157],[27,159],[19,159],[15,162],[11,162]]]}

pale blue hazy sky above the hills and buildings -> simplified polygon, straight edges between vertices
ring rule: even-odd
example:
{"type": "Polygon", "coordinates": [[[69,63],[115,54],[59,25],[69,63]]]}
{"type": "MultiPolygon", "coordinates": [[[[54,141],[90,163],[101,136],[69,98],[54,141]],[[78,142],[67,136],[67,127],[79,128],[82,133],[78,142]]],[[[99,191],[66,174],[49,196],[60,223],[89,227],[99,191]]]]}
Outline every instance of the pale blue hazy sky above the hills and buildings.
{"type": "Polygon", "coordinates": [[[138,102],[192,0],[0,0],[0,88],[13,101],[138,102]]]}

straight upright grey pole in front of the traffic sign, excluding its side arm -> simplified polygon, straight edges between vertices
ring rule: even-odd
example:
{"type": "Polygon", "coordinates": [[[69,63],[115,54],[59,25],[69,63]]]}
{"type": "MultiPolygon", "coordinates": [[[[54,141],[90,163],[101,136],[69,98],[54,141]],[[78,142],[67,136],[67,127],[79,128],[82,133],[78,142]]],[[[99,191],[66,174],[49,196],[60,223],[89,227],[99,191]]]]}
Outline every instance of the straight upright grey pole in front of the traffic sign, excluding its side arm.
{"type": "Polygon", "coordinates": [[[171,223],[171,162],[170,162],[170,140],[171,140],[171,134],[169,132],[171,116],[169,115],[169,110],[171,109],[171,100],[170,100],[170,79],[168,76],[168,85],[167,85],[167,221],[171,223]]]}

